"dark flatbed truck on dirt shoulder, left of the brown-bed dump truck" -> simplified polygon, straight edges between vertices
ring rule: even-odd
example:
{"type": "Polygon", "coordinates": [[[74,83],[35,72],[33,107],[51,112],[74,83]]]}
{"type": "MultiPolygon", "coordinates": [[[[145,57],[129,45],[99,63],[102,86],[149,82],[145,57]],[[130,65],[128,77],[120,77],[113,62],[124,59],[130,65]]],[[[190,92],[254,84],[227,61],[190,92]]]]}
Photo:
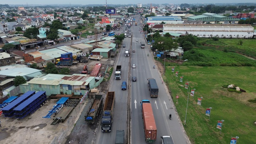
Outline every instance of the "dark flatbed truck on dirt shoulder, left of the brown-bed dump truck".
{"type": "Polygon", "coordinates": [[[95,95],[94,102],[89,112],[84,116],[85,122],[94,123],[102,106],[102,95],[95,95]]]}

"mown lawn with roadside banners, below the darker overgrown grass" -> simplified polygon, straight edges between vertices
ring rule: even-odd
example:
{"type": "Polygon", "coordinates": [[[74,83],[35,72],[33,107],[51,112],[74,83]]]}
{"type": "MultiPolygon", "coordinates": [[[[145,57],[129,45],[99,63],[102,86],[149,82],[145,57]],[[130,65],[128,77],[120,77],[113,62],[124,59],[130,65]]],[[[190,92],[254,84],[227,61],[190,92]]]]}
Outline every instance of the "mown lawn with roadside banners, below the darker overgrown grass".
{"type": "MultiPolygon", "coordinates": [[[[174,97],[178,114],[184,124],[187,104],[187,89],[171,72],[172,66],[166,67],[165,81],[174,97]],[[178,95],[178,103],[175,96],[178,95]]],[[[183,84],[189,82],[190,90],[196,89],[194,98],[189,96],[186,125],[184,126],[193,144],[227,144],[231,137],[239,136],[238,144],[255,143],[256,103],[255,67],[200,67],[176,66],[179,77],[184,76],[183,84]],[[222,88],[224,84],[235,84],[246,92],[238,94],[222,88]],[[203,97],[202,106],[197,105],[197,98],[203,97]],[[210,120],[205,115],[206,108],[212,107],[210,120]],[[216,128],[217,120],[224,120],[222,133],[216,128]]]]}

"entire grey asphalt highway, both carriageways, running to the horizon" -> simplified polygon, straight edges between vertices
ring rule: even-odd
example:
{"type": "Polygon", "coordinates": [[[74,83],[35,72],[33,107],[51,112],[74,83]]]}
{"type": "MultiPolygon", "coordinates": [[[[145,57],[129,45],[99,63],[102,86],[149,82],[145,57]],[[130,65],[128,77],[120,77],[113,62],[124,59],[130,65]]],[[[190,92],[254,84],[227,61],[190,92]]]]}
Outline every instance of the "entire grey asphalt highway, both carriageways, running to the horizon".
{"type": "MultiPolygon", "coordinates": [[[[150,54],[148,45],[145,44],[145,48],[140,48],[140,42],[146,43],[146,40],[139,31],[139,18],[140,16],[136,17],[138,26],[135,26],[135,22],[131,26],[132,38],[127,37],[124,39],[123,44],[126,44],[126,48],[121,48],[116,64],[114,65],[114,70],[116,65],[122,65],[122,78],[121,80],[115,80],[114,76],[112,76],[109,88],[109,91],[116,92],[112,132],[103,133],[99,126],[95,143],[113,144],[115,142],[116,130],[124,130],[126,143],[146,144],[140,101],[147,99],[150,100],[152,105],[157,127],[157,138],[155,143],[159,144],[161,142],[160,136],[172,136],[175,144],[186,144],[186,138],[175,115],[173,105],[169,100],[167,94],[168,91],[165,89],[164,84],[162,84],[162,79],[157,68],[153,68],[155,65],[154,59],[150,54]],[[138,39],[138,42],[136,42],[136,39],[138,39]],[[127,48],[130,48],[129,57],[124,56],[124,50],[127,48]],[[135,49],[135,52],[132,52],[132,49],[135,49]],[[136,64],[136,68],[132,68],[132,64],[136,64]],[[137,77],[137,82],[132,82],[132,76],[137,77]],[[156,79],[159,88],[158,98],[150,98],[147,78],[156,79]],[[122,81],[128,82],[127,90],[121,90],[122,81]],[[129,121],[128,109],[130,110],[131,121],[129,121]],[[169,119],[170,113],[172,114],[172,120],[169,119]],[[130,134],[128,135],[129,126],[130,134]]],[[[125,28],[123,27],[123,29],[125,28]]]]}

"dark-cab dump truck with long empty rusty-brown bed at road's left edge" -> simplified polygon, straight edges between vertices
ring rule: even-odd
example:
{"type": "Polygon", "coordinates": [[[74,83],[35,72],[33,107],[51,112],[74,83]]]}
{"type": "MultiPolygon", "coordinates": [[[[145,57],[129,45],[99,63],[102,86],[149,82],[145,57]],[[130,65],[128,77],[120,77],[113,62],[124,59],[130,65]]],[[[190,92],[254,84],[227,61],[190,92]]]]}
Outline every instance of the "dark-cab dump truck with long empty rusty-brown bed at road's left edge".
{"type": "Polygon", "coordinates": [[[108,92],[103,108],[103,115],[101,120],[101,131],[111,132],[112,121],[114,116],[115,106],[115,92],[108,92]]]}

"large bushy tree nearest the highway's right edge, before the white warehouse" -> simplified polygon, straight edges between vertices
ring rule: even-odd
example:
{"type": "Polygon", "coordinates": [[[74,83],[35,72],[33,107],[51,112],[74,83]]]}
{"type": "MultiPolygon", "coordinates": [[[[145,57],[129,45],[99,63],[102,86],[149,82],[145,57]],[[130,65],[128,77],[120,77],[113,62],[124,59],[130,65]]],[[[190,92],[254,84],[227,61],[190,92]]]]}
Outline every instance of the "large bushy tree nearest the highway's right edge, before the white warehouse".
{"type": "Polygon", "coordinates": [[[168,37],[156,38],[153,47],[158,49],[158,51],[164,52],[164,55],[168,54],[172,49],[176,50],[178,44],[168,37]]]}

